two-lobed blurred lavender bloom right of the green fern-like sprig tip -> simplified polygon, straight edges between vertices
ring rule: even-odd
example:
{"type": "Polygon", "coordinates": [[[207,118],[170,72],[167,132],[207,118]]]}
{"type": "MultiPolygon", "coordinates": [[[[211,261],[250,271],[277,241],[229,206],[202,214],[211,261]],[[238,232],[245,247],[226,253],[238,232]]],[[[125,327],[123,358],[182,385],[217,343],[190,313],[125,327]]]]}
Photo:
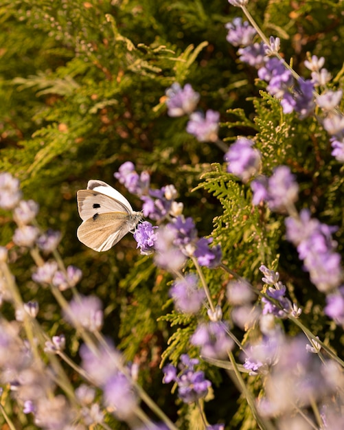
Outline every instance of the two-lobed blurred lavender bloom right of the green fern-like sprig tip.
{"type": "Polygon", "coordinates": [[[261,200],[268,203],[271,210],[285,210],[297,201],[299,186],[287,166],[279,166],[267,179],[255,179],[251,183],[253,204],[261,200]]]}

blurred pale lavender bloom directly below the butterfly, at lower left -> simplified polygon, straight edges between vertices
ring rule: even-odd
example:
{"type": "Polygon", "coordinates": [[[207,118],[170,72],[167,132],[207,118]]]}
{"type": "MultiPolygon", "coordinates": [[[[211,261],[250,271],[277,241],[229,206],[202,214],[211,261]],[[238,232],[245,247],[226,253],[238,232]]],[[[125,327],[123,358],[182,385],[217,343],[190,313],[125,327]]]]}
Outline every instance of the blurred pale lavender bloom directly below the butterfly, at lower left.
{"type": "Polygon", "coordinates": [[[81,326],[91,332],[102,328],[102,302],[96,296],[80,296],[72,299],[64,314],[65,319],[76,328],[81,326]]]}

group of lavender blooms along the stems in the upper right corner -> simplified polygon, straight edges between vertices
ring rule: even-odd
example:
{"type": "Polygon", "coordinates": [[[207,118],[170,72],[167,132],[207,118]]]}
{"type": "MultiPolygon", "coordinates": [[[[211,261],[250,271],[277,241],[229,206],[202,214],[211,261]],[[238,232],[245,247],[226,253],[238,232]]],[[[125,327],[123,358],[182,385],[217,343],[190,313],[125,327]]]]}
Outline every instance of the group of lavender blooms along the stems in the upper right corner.
{"type": "Polygon", "coordinates": [[[311,71],[310,80],[295,78],[292,70],[278,56],[279,38],[270,38],[270,43],[254,43],[255,29],[240,18],[227,23],[227,41],[239,47],[238,54],[243,63],[256,67],[261,80],[267,82],[267,91],[280,100],[284,113],[296,112],[300,119],[314,113],[315,106],[319,106],[322,116],[319,117],[323,128],[329,133],[332,144],[332,155],[340,162],[344,162],[344,116],[339,112],[339,104],[343,98],[343,91],[327,89],[331,80],[327,69],[323,68],[325,58],[309,57],[304,62],[311,71]],[[321,95],[317,95],[314,88],[325,88],[321,95]]]}

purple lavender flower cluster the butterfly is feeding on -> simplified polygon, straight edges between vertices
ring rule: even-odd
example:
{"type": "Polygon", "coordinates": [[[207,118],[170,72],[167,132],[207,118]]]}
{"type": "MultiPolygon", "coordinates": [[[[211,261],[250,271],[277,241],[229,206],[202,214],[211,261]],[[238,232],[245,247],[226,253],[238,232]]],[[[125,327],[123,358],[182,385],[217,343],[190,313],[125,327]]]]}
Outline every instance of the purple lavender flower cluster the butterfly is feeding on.
{"type": "Polygon", "coordinates": [[[159,228],[153,227],[148,221],[137,226],[134,238],[142,254],[148,255],[157,251],[155,260],[157,264],[171,271],[179,269],[185,257],[194,256],[200,266],[209,268],[220,264],[222,257],[220,245],[211,247],[211,238],[198,238],[194,220],[182,215],[183,204],[175,200],[177,192],[174,185],[166,185],[160,190],[147,188],[148,175],[144,188],[137,185],[139,181],[133,187],[133,181],[130,178],[139,178],[139,175],[135,172],[132,163],[129,168],[128,163],[124,163],[119,168],[118,174],[115,173],[115,177],[120,177],[122,183],[129,184],[130,189],[137,190],[137,194],[144,202],[142,206],[144,216],[159,223],[168,220],[164,227],[159,228]],[[172,256],[174,258],[171,258],[172,256]]]}

